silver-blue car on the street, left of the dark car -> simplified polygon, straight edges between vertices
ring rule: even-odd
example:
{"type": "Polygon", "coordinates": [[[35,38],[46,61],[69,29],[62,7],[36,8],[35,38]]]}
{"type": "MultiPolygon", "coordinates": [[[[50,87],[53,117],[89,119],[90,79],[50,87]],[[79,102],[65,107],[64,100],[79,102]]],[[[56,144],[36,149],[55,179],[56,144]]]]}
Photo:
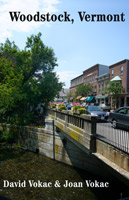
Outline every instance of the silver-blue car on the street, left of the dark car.
{"type": "Polygon", "coordinates": [[[108,119],[108,113],[104,112],[99,106],[86,106],[86,110],[90,115],[96,116],[98,120],[108,119]]]}

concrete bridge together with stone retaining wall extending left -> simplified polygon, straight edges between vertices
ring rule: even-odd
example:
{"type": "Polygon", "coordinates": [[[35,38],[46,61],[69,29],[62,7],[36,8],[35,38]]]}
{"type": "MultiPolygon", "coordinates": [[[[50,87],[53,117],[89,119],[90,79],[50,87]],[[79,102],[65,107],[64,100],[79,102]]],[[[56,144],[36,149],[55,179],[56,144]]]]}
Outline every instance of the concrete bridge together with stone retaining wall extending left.
{"type": "Polygon", "coordinates": [[[129,132],[96,117],[48,110],[45,127],[0,124],[22,148],[129,186],[129,132]]]}

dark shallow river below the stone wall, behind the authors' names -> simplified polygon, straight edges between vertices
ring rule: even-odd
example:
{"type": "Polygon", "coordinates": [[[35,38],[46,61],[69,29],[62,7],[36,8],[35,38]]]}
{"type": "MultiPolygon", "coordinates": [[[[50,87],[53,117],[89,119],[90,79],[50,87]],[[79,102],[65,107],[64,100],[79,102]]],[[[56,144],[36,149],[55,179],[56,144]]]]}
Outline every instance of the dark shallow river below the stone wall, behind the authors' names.
{"type": "Polygon", "coordinates": [[[10,200],[117,200],[128,189],[43,155],[0,147],[0,196],[10,200]],[[98,188],[98,182],[108,184],[98,188]]]}

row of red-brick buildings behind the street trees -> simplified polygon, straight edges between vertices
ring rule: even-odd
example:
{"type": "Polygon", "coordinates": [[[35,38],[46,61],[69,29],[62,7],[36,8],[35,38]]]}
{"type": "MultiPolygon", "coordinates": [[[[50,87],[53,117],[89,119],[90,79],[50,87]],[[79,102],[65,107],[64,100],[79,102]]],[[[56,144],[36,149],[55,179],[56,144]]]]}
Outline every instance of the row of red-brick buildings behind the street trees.
{"type": "Polygon", "coordinates": [[[117,107],[129,106],[129,60],[125,59],[110,66],[96,64],[83,71],[83,74],[71,80],[70,91],[74,96],[76,88],[81,84],[92,84],[91,96],[96,97],[98,104],[109,104],[113,107],[112,95],[105,94],[108,81],[118,81],[122,90],[117,97],[117,107]]]}

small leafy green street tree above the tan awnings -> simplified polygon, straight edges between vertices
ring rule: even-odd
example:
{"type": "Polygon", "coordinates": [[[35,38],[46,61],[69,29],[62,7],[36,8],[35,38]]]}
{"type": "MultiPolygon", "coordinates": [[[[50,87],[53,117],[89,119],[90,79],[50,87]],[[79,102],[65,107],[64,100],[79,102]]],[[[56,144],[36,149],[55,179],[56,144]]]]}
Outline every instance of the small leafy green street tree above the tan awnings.
{"type": "Polygon", "coordinates": [[[88,96],[88,94],[92,91],[92,85],[89,83],[87,85],[79,85],[76,89],[75,96],[88,96]]]}

